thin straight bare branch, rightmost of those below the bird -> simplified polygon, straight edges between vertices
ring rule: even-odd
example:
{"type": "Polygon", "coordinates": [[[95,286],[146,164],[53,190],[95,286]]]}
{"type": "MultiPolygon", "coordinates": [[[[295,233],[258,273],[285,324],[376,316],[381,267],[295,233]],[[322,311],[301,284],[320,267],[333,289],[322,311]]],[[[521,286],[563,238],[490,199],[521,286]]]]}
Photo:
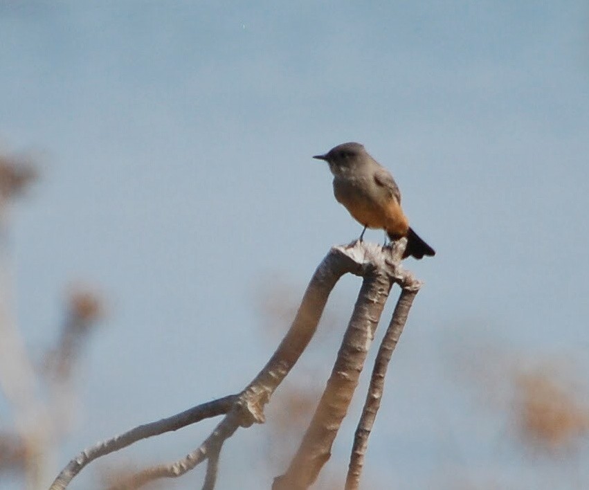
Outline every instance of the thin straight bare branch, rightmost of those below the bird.
{"type": "Polygon", "coordinates": [[[368,394],[354,435],[354,446],[350,457],[350,467],[347,471],[345,490],[356,490],[359,487],[364,457],[368,448],[368,437],[381,405],[388,363],[392,351],[397,347],[397,342],[399,342],[399,337],[403,332],[409,309],[417,295],[417,291],[419,291],[419,286],[419,282],[416,281],[412,289],[403,289],[401,291],[401,296],[399,296],[390,324],[379,347],[377,359],[374,361],[374,370],[372,370],[370,378],[368,394]]]}

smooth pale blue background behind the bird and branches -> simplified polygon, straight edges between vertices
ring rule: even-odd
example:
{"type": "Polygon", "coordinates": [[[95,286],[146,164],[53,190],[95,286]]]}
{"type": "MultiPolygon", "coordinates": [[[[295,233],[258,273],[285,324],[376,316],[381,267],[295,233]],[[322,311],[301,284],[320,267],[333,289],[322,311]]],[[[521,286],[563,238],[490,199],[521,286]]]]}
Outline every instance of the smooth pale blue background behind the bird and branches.
{"type": "MultiPolygon", "coordinates": [[[[585,1],[0,0],[0,66],[0,145],[32,152],[41,171],[10,226],[31,356],[55,342],[72,282],[96,285],[108,309],[84,350],[59,466],[257,373],[288,326],[269,333],[260,298],[289,284],[296,305],[329,247],[361,231],[311,158],[352,140],[392,172],[437,251],[407,261],[425,286],[393,357],[366,487],[587,477],[523,455],[470,376],[477,363],[500,378],[546,359],[589,374],[585,1]]],[[[338,284],[341,321],[302,357],[302,382],[312,365],[309,384],[325,383],[359,284],[338,284]]],[[[325,473],[345,472],[363,397],[325,473]]],[[[0,427],[11,417],[0,402],[0,427]]],[[[109,461],[181,457],[210,427],[109,461]]],[[[269,487],[281,469],[266,464],[266,430],[228,441],[219,488],[269,487]]],[[[90,466],[71,488],[95,477],[90,466]]]]}

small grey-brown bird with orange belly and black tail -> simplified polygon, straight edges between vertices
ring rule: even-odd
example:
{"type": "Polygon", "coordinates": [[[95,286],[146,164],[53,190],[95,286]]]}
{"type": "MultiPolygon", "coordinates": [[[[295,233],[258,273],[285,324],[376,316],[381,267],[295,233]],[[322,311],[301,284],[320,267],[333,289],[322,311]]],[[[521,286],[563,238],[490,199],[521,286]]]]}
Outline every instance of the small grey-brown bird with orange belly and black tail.
{"type": "Polygon", "coordinates": [[[334,175],[336,200],[364,226],[360,242],[366,228],[383,229],[391,240],[406,237],[403,258],[413,256],[422,259],[426,255],[435,255],[434,249],[409,226],[401,208],[401,192],[395,179],[363,145],[343,143],[313,158],[329,164],[329,170],[334,175]]]}

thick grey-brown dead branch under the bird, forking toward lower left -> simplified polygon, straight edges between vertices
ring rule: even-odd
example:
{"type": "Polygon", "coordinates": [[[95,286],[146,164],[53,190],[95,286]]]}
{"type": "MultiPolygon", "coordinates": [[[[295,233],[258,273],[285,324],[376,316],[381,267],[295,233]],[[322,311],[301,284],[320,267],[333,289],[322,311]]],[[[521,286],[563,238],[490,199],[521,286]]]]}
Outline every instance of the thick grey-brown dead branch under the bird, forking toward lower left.
{"type": "Polygon", "coordinates": [[[208,460],[203,488],[212,489],[217,478],[219,454],[225,440],[240,426],[248,427],[264,422],[264,406],[311,341],[329,293],[336,282],[345,273],[361,275],[364,280],[354,314],[314,421],[307,430],[301,449],[289,471],[284,477],[275,480],[275,488],[286,489],[285,485],[289,482],[300,482],[298,487],[288,487],[289,489],[307,488],[329,459],[329,449],[352,399],[368,347],[393,282],[409,289],[413,284],[419,289],[419,282],[400,265],[405,246],[406,241],[401,239],[392,248],[359,242],[332,248],[311,278],[296,317],[278,349],[241,393],[204,403],[161,421],[139,426],[82,451],[69,462],[60,475],[57,475],[50,490],[64,490],[89,462],[129,446],[139,439],[177,430],[204,418],[226,415],[212,434],[181,460],[151,466],[111,487],[112,490],[136,489],[158,478],[175,478],[183,475],[197,464],[208,460]]]}

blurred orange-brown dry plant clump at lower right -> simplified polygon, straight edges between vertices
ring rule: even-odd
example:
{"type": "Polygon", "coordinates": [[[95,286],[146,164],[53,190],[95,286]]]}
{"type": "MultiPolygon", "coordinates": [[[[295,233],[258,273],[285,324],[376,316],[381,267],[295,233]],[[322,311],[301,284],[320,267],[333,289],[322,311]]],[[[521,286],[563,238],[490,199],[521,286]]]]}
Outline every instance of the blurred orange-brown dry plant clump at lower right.
{"type": "Polygon", "coordinates": [[[556,355],[530,358],[492,342],[469,348],[466,381],[485,409],[503,412],[515,441],[533,454],[562,457],[583,448],[589,435],[589,386],[582,368],[556,355]],[[475,359],[476,357],[476,359],[475,359]]]}

